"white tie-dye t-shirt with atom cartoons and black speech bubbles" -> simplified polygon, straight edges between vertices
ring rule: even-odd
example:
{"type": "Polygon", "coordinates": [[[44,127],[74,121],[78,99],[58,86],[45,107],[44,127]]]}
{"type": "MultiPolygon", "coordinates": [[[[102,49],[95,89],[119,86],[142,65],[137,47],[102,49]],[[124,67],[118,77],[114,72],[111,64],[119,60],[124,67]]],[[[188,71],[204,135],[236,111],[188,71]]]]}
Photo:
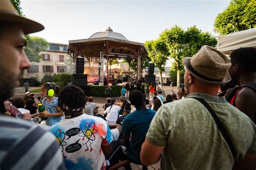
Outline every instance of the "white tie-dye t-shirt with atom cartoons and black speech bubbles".
{"type": "Polygon", "coordinates": [[[106,121],[82,114],[63,119],[49,130],[62,151],[67,169],[105,169],[102,145],[109,145],[112,135],[106,121]]]}

